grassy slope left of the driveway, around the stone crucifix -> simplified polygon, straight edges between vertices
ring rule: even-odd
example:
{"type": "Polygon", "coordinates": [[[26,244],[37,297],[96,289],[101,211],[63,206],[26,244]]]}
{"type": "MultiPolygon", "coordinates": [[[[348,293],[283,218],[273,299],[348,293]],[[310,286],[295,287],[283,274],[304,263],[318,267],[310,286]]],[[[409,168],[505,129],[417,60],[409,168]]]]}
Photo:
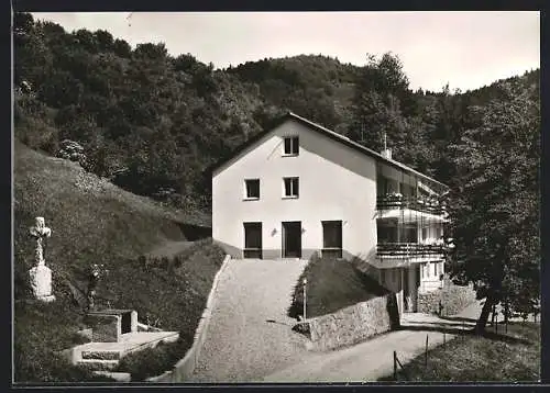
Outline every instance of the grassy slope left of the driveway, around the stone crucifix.
{"type": "Polygon", "coordinates": [[[85,378],[81,372],[65,372],[66,364],[55,359],[54,351],[77,343],[74,333],[82,319],[64,280],[84,280],[90,263],[106,263],[111,270],[99,293],[112,306],[134,307],[142,321],[147,315],[152,321],[160,318],[161,327],[180,330],[184,345],[189,345],[221,250],[204,240],[175,270],[135,266],[138,256],[165,243],[185,240],[185,215],[19,143],[14,199],[15,381],[85,378]],[[57,301],[50,305],[24,301],[34,247],[28,233],[38,215],[53,229],[45,258],[57,301]]]}

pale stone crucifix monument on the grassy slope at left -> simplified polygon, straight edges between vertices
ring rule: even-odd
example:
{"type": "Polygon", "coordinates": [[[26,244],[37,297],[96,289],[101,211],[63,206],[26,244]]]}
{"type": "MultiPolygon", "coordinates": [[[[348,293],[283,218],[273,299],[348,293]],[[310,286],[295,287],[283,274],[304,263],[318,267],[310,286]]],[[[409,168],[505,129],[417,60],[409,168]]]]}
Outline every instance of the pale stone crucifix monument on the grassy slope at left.
{"type": "Polygon", "coordinates": [[[52,235],[52,229],[46,227],[44,217],[36,217],[35,224],[31,227],[31,236],[36,239],[34,249],[35,266],[29,270],[29,278],[34,297],[43,302],[52,302],[55,296],[52,294],[52,270],[46,266],[44,259],[44,238],[52,235]]]}

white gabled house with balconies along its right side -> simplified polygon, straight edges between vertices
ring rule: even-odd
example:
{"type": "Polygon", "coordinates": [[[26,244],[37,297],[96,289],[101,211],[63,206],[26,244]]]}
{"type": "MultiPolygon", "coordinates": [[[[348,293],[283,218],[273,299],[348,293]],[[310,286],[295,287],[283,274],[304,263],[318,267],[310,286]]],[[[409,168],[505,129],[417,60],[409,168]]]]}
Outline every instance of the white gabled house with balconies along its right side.
{"type": "Polygon", "coordinates": [[[233,258],[359,258],[414,312],[442,285],[447,189],[288,113],[213,169],[212,237],[233,258]]]}

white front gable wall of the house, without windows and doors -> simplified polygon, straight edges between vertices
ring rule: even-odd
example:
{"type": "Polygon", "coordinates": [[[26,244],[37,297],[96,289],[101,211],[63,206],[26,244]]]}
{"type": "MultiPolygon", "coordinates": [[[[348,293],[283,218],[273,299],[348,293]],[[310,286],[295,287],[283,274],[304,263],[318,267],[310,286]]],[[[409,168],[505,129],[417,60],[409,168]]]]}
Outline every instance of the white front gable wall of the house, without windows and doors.
{"type": "Polygon", "coordinates": [[[212,178],[212,237],[242,257],[243,222],[262,222],[264,258],[279,258],[282,222],[301,221],[302,258],[322,248],[321,221],[342,221],[342,248],[366,257],[376,245],[376,162],[287,121],[212,178]],[[299,155],[283,156],[285,136],[299,136],[299,155]],[[299,198],[283,198],[284,177],[299,178],[299,198]],[[260,200],[244,200],[244,179],[260,179],[260,200]]]}

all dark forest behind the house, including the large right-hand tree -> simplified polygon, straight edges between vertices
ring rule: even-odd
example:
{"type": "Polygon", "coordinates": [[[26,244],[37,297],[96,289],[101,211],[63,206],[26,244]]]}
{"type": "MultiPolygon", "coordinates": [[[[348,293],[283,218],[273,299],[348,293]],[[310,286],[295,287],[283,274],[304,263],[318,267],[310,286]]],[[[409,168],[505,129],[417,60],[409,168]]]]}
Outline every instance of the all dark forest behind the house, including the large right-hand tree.
{"type": "Polygon", "coordinates": [[[301,55],[215,69],[107,31],[28,13],[13,24],[23,144],[58,155],[73,141],[88,171],[208,211],[209,166],[287,110],[375,150],[387,135],[395,159],[451,187],[454,276],[495,301],[516,293],[518,310],[538,299],[539,69],[473,91],[413,91],[391,53],[362,67],[301,55]]]}

